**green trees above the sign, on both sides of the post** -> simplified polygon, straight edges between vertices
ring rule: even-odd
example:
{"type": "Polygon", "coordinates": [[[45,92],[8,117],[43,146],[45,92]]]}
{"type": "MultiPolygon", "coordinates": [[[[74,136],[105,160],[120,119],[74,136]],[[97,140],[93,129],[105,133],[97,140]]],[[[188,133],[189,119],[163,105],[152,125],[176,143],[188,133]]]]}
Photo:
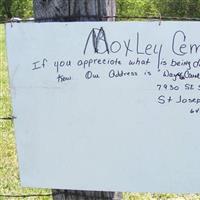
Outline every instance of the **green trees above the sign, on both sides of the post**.
{"type": "MultiPolygon", "coordinates": [[[[116,0],[118,16],[200,17],[200,0],[116,0]]],[[[32,0],[0,0],[0,18],[33,16],[32,0]]]]}

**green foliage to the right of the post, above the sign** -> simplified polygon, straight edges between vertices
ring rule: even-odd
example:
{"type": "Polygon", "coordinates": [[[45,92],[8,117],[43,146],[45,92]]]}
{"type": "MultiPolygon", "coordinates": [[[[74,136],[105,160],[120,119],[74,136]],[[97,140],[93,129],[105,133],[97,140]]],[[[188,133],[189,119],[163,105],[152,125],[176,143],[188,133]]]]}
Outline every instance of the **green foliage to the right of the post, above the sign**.
{"type": "Polygon", "coordinates": [[[200,0],[117,0],[120,16],[200,17],[200,0]]]}

